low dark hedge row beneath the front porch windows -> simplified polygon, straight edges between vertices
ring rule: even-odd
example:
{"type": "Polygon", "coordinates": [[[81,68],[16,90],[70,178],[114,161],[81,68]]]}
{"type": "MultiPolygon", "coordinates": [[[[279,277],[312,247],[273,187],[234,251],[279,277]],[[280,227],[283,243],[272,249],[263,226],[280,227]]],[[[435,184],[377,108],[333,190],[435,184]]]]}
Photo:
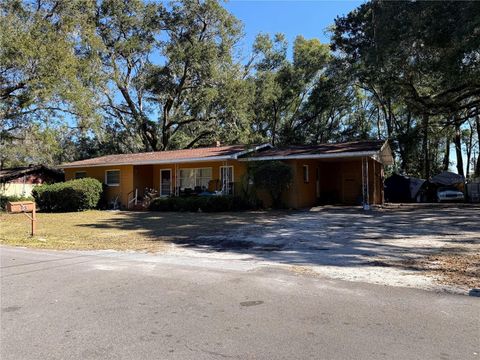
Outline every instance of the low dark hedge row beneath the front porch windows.
{"type": "Polygon", "coordinates": [[[153,199],[149,210],[221,212],[250,210],[256,207],[238,196],[190,196],[153,199]]]}

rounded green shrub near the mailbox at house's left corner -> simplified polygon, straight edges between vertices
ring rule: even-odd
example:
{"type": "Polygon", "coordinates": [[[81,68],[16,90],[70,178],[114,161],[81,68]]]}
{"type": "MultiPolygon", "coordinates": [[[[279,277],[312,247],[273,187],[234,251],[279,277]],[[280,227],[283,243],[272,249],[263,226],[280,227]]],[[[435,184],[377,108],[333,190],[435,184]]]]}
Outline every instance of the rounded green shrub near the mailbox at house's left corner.
{"type": "Polygon", "coordinates": [[[82,211],[97,206],[102,184],[92,178],[37,186],[32,195],[40,209],[49,212],[82,211]]]}

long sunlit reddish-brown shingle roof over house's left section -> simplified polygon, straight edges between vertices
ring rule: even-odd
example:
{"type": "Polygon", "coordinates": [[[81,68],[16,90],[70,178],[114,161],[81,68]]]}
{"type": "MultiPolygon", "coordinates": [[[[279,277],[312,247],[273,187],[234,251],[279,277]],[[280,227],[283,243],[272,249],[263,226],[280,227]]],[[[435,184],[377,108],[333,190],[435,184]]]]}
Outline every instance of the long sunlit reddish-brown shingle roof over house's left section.
{"type": "Polygon", "coordinates": [[[118,154],[100,156],[93,159],[74,161],[63,164],[61,167],[88,167],[105,165],[135,165],[135,164],[161,164],[174,162],[208,161],[233,159],[245,151],[255,150],[259,147],[268,145],[248,146],[248,145],[228,145],[204,147],[197,149],[170,150],[170,151],[152,151],[136,154],[118,154]]]}

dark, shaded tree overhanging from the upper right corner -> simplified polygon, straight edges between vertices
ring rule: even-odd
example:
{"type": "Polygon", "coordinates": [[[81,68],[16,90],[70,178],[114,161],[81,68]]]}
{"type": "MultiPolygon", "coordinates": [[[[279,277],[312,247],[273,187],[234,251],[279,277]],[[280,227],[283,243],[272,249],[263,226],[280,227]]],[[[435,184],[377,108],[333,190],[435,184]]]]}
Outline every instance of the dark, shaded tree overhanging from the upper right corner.
{"type": "MultiPolygon", "coordinates": [[[[376,0],[335,20],[332,49],[383,111],[389,113],[390,99],[399,97],[421,118],[425,177],[431,167],[431,118],[443,117],[450,126],[452,116],[463,124],[477,112],[480,39],[470,35],[478,32],[479,11],[478,2],[376,0]]],[[[395,114],[386,119],[391,137],[395,114]]]]}

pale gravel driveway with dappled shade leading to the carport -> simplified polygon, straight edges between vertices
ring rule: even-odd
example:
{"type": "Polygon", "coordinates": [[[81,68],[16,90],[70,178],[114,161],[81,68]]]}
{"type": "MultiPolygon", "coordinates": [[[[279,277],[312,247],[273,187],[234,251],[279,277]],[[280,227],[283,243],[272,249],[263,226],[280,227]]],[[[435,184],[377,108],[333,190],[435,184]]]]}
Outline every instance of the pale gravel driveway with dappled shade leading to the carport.
{"type": "Polygon", "coordinates": [[[479,214],[478,207],[454,206],[252,213],[248,224],[175,241],[175,251],[289,265],[353,281],[475,293],[479,214]]]}

